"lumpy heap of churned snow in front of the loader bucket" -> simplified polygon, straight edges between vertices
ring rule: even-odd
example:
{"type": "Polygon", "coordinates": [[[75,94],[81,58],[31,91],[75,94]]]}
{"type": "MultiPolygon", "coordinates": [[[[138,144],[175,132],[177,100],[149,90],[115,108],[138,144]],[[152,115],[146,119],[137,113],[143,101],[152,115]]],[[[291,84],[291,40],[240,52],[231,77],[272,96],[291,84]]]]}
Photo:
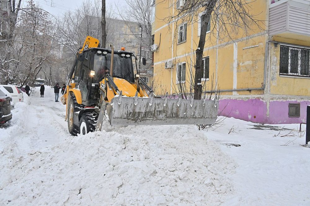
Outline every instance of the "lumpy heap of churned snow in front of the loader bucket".
{"type": "Polygon", "coordinates": [[[0,202],[219,205],[232,194],[234,168],[194,126],[129,126],[70,137],[2,165],[0,202]]]}

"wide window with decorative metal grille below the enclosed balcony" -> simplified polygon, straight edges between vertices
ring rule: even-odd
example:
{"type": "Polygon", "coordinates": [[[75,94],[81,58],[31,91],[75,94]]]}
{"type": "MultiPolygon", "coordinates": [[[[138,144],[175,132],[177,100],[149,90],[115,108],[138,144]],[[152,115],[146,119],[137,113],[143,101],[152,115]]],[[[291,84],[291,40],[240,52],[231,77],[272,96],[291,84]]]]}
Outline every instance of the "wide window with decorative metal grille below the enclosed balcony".
{"type": "Polygon", "coordinates": [[[310,49],[280,46],[280,75],[309,76],[310,49]]]}

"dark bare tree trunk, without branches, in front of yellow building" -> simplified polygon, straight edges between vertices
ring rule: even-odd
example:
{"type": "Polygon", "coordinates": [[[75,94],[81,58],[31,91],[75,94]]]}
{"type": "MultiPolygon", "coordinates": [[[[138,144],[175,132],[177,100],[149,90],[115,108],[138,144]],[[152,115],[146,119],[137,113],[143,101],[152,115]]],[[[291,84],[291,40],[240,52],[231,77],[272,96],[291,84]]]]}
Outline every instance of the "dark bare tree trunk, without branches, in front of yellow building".
{"type": "Polygon", "coordinates": [[[208,19],[211,17],[211,13],[215,6],[216,0],[211,0],[206,6],[205,20],[201,22],[200,38],[198,43],[198,49],[196,50],[196,65],[195,65],[195,82],[194,82],[194,99],[200,100],[202,96],[202,84],[201,79],[203,78],[203,49],[206,42],[206,32],[208,19]]]}

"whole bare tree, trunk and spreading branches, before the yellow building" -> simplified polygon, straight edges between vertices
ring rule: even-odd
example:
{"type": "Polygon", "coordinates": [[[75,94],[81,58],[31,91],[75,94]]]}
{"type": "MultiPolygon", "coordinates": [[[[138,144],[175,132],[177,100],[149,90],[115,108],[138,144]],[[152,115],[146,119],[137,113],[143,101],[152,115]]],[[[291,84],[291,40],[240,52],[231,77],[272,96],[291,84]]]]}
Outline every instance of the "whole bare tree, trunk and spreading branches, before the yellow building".
{"type": "MultiPolygon", "coordinates": [[[[178,1],[177,1],[178,2],[178,1]]],[[[212,23],[210,35],[216,36],[219,41],[234,41],[237,39],[238,32],[248,36],[253,28],[259,28],[261,20],[255,19],[256,15],[251,14],[251,1],[246,0],[187,0],[184,7],[180,7],[174,14],[166,17],[167,23],[188,22],[194,24],[199,21],[201,15],[200,38],[197,45],[195,80],[194,80],[194,99],[201,99],[203,78],[203,50],[206,41],[208,24],[212,23]],[[210,19],[210,20],[209,20],[210,19]]],[[[176,3],[171,7],[176,7],[176,3]]],[[[176,36],[177,32],[175,32],[176,36]]]]}

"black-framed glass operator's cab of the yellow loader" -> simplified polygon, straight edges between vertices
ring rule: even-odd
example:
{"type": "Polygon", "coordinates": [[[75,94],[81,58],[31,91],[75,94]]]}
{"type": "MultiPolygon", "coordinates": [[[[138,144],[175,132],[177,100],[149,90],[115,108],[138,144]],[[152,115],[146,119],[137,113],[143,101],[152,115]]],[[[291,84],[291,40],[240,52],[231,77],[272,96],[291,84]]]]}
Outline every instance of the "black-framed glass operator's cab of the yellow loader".
{"type": "MultiPolygon", "coordinates": [[[[111,70],[111,50],[104,48],[91,48],[78,55],[78,63],[74,72],[74,83],[81,91],[82,104],[86,106],[96,105],[99,93],[99,83],[111,70]]],[[[125,79],[135,83],[133,70],[133,58],[131,52],[114,51],[113,77],[125,79]]]]}

